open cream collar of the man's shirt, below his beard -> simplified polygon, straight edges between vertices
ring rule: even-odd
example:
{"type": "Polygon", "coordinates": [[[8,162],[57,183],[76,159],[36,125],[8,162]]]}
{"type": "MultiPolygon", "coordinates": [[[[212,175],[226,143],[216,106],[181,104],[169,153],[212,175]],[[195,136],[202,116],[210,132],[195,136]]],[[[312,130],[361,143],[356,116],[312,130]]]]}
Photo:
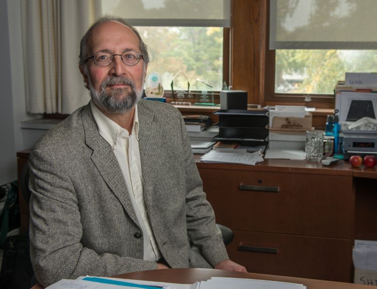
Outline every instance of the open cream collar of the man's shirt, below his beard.
{"type": "MultiPolygon", "coordinates": [[[[98,131],[100,135],[115,149],[117,146],[117,137],[119,135],[129,135],[127,129],[121,127],[118,123],[107,117],[98,107],[90,100],[91,113],[98,125],[98,131]]],[[[135,105],[134,121],[132,123],[131,134],[135,134],[137,140],[139,140],[139,117],[137,104],[135,105]]]]}

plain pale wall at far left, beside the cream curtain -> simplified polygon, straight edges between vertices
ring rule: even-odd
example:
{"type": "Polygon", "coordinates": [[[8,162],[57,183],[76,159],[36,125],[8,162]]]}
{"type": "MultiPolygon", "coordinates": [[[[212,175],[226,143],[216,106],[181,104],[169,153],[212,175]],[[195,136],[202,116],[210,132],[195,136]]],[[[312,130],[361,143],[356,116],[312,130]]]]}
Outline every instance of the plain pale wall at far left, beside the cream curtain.
{"type": "Polygon", "coordinates": [[[0,185],[17,180],[16,153],[35,142],[30,133],[25,136],[21,121],[41,117],[26,113],[20,3],[0,0],[0,185]]]}

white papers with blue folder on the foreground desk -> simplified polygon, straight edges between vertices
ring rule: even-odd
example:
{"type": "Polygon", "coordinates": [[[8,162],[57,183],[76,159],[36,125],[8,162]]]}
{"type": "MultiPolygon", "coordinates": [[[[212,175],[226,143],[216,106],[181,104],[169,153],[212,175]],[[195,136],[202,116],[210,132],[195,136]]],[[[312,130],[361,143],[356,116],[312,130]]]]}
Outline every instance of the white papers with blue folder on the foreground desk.
{"type": "Polygon", "coordinates": [[[143,289],[306,289],[303,284],[242,279],[212,277],[207,281],[199,281],[194,284],[177,284],[167,282],[155,282],[144,280],[118,279],[107,277],[78,277],[75,280],[62,279],[46,289],[121,289],[121,288],[143,288],[143,289]]]}

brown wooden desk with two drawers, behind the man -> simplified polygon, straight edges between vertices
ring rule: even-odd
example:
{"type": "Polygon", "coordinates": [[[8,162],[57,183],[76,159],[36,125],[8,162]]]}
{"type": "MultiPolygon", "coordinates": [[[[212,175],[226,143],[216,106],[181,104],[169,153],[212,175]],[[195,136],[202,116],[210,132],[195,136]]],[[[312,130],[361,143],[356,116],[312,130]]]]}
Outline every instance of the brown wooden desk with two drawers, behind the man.
{"type": "Polygon", "coordinates": [[[377,171],[339,161],[200,163],[230,258],[249,272],[352,282],[354,239],[377,240],[377,171]]]}

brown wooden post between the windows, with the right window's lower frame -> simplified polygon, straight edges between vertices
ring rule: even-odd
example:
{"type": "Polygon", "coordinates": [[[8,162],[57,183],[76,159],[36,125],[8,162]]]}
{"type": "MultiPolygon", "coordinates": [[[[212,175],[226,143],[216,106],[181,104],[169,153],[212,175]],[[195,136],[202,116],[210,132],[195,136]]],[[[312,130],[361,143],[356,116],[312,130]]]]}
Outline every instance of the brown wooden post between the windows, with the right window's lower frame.
{"type": "MultiPolygon", "coordinates": [[[[306,105],[334,108],[330,95],[275,94],[275,51],[268,49],[269,1],[233,0],[231,27],[231,84],[248,92],[249,104],[306,105]]],[[[335,84],[334,84],[335,86],[335,84]]]]}

